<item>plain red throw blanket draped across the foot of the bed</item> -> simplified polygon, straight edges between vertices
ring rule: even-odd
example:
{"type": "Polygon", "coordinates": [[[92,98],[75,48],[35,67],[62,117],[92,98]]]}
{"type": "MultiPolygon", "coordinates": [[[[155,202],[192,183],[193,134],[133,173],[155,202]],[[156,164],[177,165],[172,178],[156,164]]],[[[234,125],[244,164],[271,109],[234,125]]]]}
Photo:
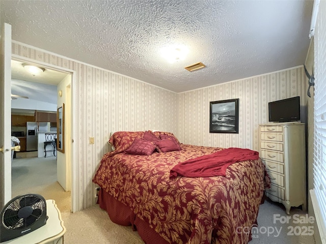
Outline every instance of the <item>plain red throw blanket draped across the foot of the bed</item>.
{"type": "Polygon", "coordinates": [[[170,179],[178,175],[186,177],[225,176],[231,164],[245,160],[257,160],[259,154],[250,149],[230,147],[210,155],[190,159],[174,166],[170,171],[170,179]]]}

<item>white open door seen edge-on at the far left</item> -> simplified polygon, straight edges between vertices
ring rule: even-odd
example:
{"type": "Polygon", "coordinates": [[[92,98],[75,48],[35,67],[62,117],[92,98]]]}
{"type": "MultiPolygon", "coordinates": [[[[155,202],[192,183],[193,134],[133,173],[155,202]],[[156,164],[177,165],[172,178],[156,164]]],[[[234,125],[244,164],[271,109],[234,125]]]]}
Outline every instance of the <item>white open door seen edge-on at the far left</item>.
{"type": "Polygon", "coordinates": [[[11,200],[11,25],[3,22],[0,25],[0,208],[3,208],[11,200]]]}

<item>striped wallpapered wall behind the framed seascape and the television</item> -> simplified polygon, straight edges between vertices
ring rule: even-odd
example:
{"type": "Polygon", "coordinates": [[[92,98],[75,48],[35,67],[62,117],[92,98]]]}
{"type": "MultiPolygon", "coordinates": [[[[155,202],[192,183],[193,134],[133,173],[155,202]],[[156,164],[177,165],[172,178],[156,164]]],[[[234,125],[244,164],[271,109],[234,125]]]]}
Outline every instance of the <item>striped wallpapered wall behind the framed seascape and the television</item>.
{"type": "Polygon", "coordinates": [[[304,68],[240,79],[179,94],[178,138],[186,144],[258,150],[258,124],[268,122],[268,102],[301,97],[306,118],[304,68]],[[239,98],[239,134],[209,133],[209,102],[239,98]]]}

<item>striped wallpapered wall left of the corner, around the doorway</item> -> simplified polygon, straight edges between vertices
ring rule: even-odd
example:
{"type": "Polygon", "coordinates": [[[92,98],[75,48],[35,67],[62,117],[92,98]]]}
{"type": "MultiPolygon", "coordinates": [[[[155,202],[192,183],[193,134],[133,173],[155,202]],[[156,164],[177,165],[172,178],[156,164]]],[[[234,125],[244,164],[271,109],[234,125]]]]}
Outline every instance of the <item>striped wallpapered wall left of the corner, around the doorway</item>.
{"type": "MultiPolygon", "coordinates": [[[[12,54],[74,70],[73,210],[95,203],[93,175],[108,151],[110,132],[171,131],[177,134],[178,95],[116,73],[13,42],[12,54]],[[95,144],[89,144],[89,137],[95,144]]],[[[64,90],[63,90],[64,92],[64,90]]]]}

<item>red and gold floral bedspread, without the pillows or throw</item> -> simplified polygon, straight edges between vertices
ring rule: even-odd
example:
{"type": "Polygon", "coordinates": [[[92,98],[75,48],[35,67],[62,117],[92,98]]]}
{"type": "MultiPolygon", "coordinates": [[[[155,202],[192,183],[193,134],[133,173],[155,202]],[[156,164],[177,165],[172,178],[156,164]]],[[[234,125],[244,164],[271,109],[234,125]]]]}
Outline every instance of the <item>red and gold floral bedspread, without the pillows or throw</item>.
{"type": "Polygon", "coordinates": [[[241,230],[255,223],[266,184],[260,159],[234,163],[226,176],[170,179],[178,163],[223,149],[181,148],[150,156],[113,151],[93,182],[171,243],[247,243],[248,231],[241,230]]]}

